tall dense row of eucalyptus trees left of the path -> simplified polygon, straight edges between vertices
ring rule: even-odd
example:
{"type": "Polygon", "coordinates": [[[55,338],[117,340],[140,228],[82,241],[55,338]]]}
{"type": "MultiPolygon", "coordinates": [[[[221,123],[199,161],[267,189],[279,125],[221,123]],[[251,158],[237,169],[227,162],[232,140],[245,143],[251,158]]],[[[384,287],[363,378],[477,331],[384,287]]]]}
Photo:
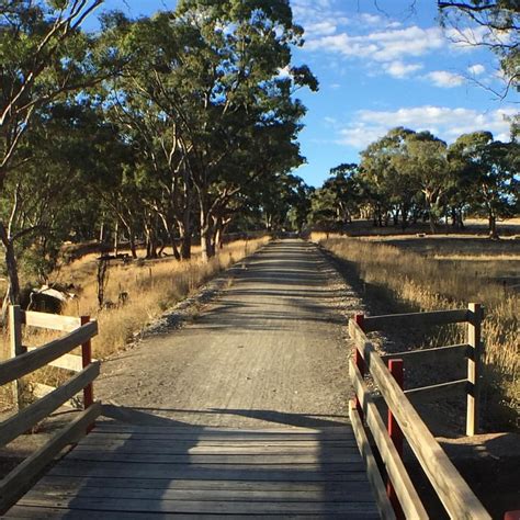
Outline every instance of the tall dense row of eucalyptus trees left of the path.
{"type": "Polygon", "coordinates": [[[196,237],[208,259],[231,221],[273,226],[303,186],[289,173],[304,161],[295,92],[318,83],[292,64],[289,0],[180,0],[84,32],[101,3],[0,5],[4,306],[19,265],[45,279],[65,240],[110,228],[133,256],[144,240],[181,260],[196,237]]]}

